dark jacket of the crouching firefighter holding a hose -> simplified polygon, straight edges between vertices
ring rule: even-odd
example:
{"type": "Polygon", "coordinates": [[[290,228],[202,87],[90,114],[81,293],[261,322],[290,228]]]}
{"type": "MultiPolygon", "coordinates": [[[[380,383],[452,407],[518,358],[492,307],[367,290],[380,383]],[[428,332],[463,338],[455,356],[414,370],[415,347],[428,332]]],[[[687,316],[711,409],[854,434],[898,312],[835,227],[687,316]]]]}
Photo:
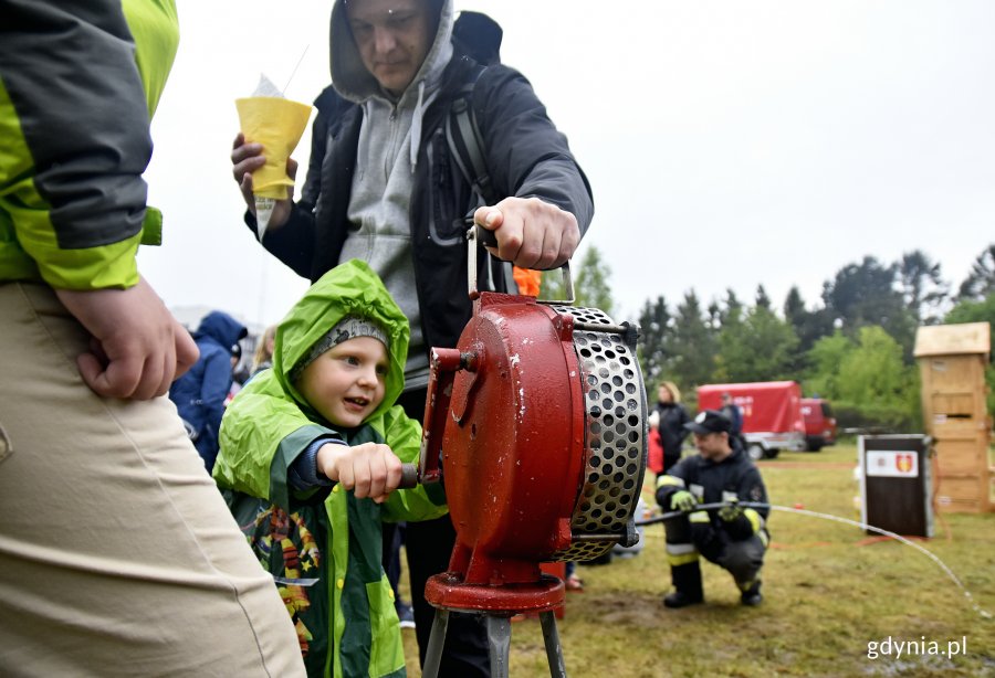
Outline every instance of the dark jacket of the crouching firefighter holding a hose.
{"type": "MultiPolygon", "coordinates": [[[[767,489],[760,470],[739,443],[731,441],[731,444],[733,453],[718,464],[700,454],[681,459],[668,472],[669,478],[659,483],[657,504],[669,510],[671,495],[682,489],[691,491],[701,504],[716,504],[732,498],[767,504],[767,489]]],[[[771,512],[768,508],[752,510],[764,519],[771,512]]],[[[745,515],[724,522],[712,511],[711,522],[713,527],[724,529],[735,540],[747,539],[756,532],[756,525],[745,515]]]]}

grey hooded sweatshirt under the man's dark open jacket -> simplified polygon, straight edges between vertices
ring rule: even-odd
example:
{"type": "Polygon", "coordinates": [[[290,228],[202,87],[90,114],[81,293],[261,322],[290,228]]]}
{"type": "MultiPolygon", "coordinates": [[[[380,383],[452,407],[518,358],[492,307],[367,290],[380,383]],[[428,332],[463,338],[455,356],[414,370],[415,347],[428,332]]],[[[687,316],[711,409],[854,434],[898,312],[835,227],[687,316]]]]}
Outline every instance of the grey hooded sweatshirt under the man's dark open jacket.
{"type": "Polygon", "coordinates": [[[396,98],[363,65],[353,40],[345,1],[332,9],[332,84],[363,107],[348,219],[350,231],[339,261],[369,263],[411,324],[405,373],[407,386],[428,383],[428,358],[415,286],[410,204],[421,141],[423,112],[439,93],[442,72],[452,59],[452,0],[440,6],[436,39],[408,88],[396,98]]]}

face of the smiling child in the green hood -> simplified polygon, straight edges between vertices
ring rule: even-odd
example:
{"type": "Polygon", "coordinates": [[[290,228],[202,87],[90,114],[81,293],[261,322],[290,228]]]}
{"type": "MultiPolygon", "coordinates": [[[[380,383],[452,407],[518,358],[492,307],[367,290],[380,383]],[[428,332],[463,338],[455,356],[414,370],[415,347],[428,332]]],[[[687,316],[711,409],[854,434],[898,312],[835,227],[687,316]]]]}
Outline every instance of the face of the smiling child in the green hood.
{"type": "Polygon", "coordinates": [[[328,422],[353,428],[384,400],[387,368],[387,348],[379,339],[355,337],[304,368],[297,390],[328,422]]]}

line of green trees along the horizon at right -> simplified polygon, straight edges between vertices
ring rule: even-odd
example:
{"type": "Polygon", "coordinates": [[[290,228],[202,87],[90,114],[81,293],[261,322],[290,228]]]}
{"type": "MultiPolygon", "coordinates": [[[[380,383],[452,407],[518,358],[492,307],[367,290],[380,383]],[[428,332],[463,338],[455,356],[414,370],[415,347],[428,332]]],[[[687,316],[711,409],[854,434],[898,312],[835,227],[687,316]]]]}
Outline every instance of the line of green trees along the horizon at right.
{"type": "MultiPolygon", "coordinates": [[[[588,248],[576,269],[575,304],[612,315],[610,275],[597,248],[588,248]]],[[[541,297],[562,295],[559,276],[544,275],[541,297]]],[[[794,380],[805,395],[831,401],[845,426],[920,430],[917,328],[976,321],[995,328],[995,244],[956,287],[915,250],[890,264],[869,255],[847,264],[811,305],[797,287],[779,307],[763,285],[750,300],[727,289],[705,301],[689,289],[675,305],[663,296],[647,299],[630,320],[641,328],[639,360],[650,398],[663,379],[689,394],[692,409],[701,384],[794,380]]],[[[992,412],[991,363],[987,382],[992,412]]]]}

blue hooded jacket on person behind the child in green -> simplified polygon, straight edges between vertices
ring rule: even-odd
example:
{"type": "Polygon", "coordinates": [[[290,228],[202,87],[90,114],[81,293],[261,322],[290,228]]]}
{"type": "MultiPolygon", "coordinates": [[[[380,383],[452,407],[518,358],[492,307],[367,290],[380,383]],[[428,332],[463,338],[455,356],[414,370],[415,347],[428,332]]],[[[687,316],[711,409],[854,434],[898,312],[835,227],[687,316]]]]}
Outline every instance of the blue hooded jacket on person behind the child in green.
{"type": "Polygon", "coordinates": [[[231,347],[245,333],[245,326],[228,314],[209,312],[193,332],[200,358],[169,389],[169,400],[192,430],[193,446],[208,472],[218,456],[218,430],[231,390],[231,347]]]}

